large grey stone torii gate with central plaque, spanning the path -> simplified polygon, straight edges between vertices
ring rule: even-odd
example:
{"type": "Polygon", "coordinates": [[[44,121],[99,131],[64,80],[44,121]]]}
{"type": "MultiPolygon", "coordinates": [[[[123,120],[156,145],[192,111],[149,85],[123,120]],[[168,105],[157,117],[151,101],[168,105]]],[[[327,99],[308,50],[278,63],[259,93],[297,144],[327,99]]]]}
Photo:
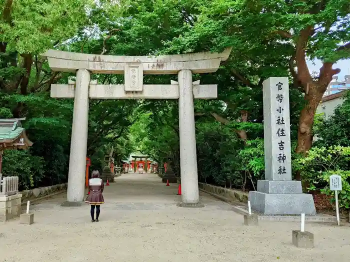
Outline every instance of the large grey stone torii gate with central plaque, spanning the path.
{"type": "Polygon", "coordinates": [[[84,198],[88,106],[91,99],[178,99],[182,202],[179,206],[203,206],[199,203],[193,98],[217,97],[216,84],[192,82],[192,73],[215,72],[228,58],[231,48],[222,53],[187,53],[162,56],[118,56],[47,50],[54,71],[76,72],[76,81],[51,84],[51,97],[74,98],[71,130],[67,201],[62,205],[80,205],[84,198]],[[90,73],[124,74],[124,84],[97,84],[90,73]],[[143,84],[143,74],[177,74],[170,84],[143,84]]]}

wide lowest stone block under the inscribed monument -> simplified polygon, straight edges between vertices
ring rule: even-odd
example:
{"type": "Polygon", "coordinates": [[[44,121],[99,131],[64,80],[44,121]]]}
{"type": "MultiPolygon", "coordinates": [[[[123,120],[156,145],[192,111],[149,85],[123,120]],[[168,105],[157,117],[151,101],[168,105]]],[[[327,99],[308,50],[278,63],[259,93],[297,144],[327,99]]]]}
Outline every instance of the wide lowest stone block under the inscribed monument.
{"type": "Polygon", "coordinates": [[[311,194],[249,192],[251,209],[263,214],[316,214],[311,194]]]}

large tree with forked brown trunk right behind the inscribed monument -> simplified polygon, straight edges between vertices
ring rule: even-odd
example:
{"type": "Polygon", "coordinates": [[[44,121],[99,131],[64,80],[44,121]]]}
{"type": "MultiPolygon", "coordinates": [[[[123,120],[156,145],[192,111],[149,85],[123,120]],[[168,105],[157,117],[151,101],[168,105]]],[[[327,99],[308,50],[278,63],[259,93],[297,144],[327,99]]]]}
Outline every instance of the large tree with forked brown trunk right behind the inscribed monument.
{"type": "MultiPolygon", "coordinates": [[[[191,30],[171,40],[167,51],[234,46],[226,68],[253,89],[261,88],[269,76],[287,76],[289,70],[292,87],[304,93],[305,101],[296,152],[307,151],[316,107],[332,76],[340,71],[332,66],[350,58],[348,0],[213,0],[200,4],[200,19],[194,19],[191,30]],[[317,79],[311,76],[307,58],[323,62],[317,79]]],[[[243,116],[248,117],[249,112],[243,116]]]]}

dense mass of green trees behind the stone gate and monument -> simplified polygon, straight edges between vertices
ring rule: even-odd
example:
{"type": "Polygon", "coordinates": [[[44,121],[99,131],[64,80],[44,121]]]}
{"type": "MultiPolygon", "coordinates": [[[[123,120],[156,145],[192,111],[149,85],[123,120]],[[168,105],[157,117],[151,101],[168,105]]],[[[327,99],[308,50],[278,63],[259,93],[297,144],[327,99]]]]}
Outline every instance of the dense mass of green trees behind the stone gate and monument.
{"type": "MultiPolygon", "coordinates": [[[[75,75],[52,71],[40,56],[48,48],[159,55],[232,46],[215,73],[193,75],[203,84],[218,84],[217,99],[194,103],[198,175],[201,181],[244,189],[253,189],[264,175],[262,82],[289,77],[292,148],[305,153],[317,129],[316,107],[339,72],[332,65],[350,58],[348,0],[2,0],[0,12],[0,117],[25,116],[34,142],[28,151],[4,156],[8,163],[20,159],[22,167],[4,164],[4,172],[20,175],[23,188],[67,176],[73,101],[52,99],[49,91],[52,83],[67,83],[75,75]],[[323,64],[312,73],[306,60],[314,58],[323,64]]],[[[122,75],[112,74],[92,74],[91,79],[123,82],[122,75]]],[[[144,75],[143,83],[171,79],[176,76],[144,75]]],[[[324,146],[348,146],[333,139],[328,128],[336,125],[348,136],[345,107],[317,129],[324,146]]],[[[91,100],[88,128],[92,168],[102,167],[103,155],[113,146],[117,163],[139,150],[159,163],[172,157],[180,174],[176,101],[91,100]]],[[[293,167],[297,174],[297,162],[293,167]]]]}

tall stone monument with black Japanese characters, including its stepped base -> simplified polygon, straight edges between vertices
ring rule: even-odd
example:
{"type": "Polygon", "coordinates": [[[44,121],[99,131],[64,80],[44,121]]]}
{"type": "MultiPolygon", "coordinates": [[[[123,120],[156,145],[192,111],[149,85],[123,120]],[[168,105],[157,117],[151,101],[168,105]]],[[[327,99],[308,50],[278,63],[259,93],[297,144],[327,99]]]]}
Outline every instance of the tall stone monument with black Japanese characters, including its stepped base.
{"type": "Polygon", "coordinates": [[[249,192],[251,208],[264,214],[315,214],[311,194],[291,180],[288,77],[263,82],[265,180],[249,192]]]}

